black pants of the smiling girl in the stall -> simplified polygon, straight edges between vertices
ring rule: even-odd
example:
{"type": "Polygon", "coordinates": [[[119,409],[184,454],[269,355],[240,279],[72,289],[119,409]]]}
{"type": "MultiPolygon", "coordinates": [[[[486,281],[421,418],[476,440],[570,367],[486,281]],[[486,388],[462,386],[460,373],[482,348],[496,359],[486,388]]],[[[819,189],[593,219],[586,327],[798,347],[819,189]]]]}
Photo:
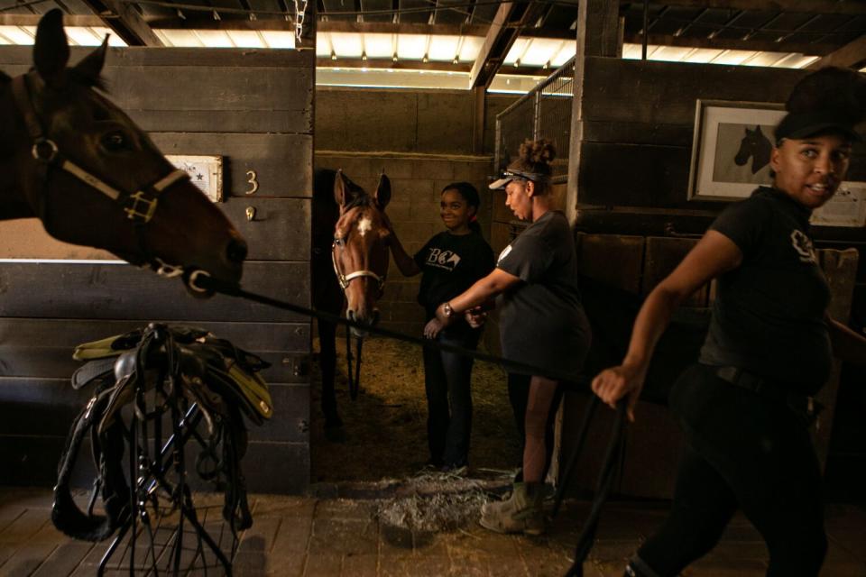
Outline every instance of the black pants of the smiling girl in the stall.
{"type": "MultiPolygon", "coordinates": [[[[438,334],[443,344],[474,350],[481,331],[457,325],[438,334]]],[[[472,357],[424,347],[427,391],[427,435],[430,462],[451,466],[469,463],[472,434],[472,357]]]]}

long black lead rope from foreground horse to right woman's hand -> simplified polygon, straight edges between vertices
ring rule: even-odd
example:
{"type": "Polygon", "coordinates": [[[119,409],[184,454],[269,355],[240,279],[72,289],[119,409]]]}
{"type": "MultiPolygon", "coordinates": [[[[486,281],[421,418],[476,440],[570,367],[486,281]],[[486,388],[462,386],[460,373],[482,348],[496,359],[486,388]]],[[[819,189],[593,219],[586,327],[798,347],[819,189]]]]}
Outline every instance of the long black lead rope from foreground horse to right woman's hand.
{"type": "MultiPolygon", "coordinates": [[[[532,365],[522,362],[514,362],[508,359],[503,359],[502,357],[493,356],[492,354],[478,353],[477,351],[471,351],[460,346],[455,346],[453,344],[439,343],[438,341],[421,339],[416,336],[401,334],[375,326],[362,325],[356,321],[344,318],[339,315],[334,315],[312,308],[300,307],[299,305],[278,300],[276,298],[265,297],[264,295],[259,295],[241,289],[241,287],[237,284],[226,283],[222,280],[214,279],[213,277],[208,275],[207,272],[194,272],[189,277],[188,282],[191,285],[191,288],[194,290],[213,291],[229,297],[244,298],[246,300],[251,300],[253,302],[269,307],[281,308],[283,310],[288,310],[293,313],[298,313],[299,315],[312,316],[316,318],[321,318],[329,323],[344,325],[346,327],[346,334],[350,332],[348,330],[350,327],[355,327],[368,333],[379,334],[387,338],[405,341],[407,343],[415,343],[420,346],[429,347],[438,351],[445,351],[447,353],[461,354],[467,357],[471,357],[473,359],[477,359],[479,361],[492,362],[494,364],[502,366],[502,368],[504,368],[505,370],[528,374],[544,374],[550,378],[554,378],[565,383],[581,382],[579,377],[576,377],[576,375],[573,374],[567,374],[559,371],[551,371],[548,369],[541,369],[539,367],[534,367],[532,365]]],[[[347,346],[346,353],[348,352],[349,348],[347,346]]],[[[360,357],[361,353],[359,348],[358,366],[360,366],[360,357]]],[[[351,374],[351,371],[349,372],[351,374]]],[[[571,474],[571,470],[577,461],[577,456],[583,449],[585,438],[589,430],[590,421],[592,420],[595,408],[598,406],[599,402],[599,398],[592,395],[592,398],[590,398],[589,401],[589,407],[586,409],[584,421],[581,424],[581,431],[576,441],[575,450],[572,452],[568,459],[566,473],[563,477],[563,482],[560,483],[559,488],[557,489],[557,496],[554,503],[553,515],[556,515],[559,510],[559,506],[563,498],[563,492],[567,485],[568,476],[571,474]]],[[[584,528],[581,531],[580,536],[578,536],[577,538],[577,545],[575,546],[575,561],[566,573],[566,577],[583,577],[584,575],[583,565],[586,557],[589,556],[590,550],[592,550],[593,548],[595,533],[598,529],[598,521],[602,513],[602,506],[610,495],[611,490],[613,489],[613,480],[616,478],[616,472],[618,470],[617,464],[621,461],[622,448],[624,446],[625,440],[625,427],[628,423],[627,419],[625,418],[625,408],[626,403],[623,399],[617,405],[616,418],[613,421],[611,440],[608,443],[607,448],[605,449],[602,470],[601,472],[599,472],[598,481],[596,483],[593,505],[592,508],[590,508],[589,515],[586,517],[584,528]]]]}

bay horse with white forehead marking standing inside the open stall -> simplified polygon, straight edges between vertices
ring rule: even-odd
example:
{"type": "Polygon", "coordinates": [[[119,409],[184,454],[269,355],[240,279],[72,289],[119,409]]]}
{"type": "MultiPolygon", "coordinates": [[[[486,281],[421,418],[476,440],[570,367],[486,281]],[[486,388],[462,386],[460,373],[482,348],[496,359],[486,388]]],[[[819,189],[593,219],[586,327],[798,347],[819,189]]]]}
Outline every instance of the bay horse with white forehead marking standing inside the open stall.
{"type": "MultiPolygon", "coordinates": [[[[384,174],[369,195],[342,171],[316,170],[313,184],[313,307],[364,325],[379,320],[388,273],[389,227],[384,215],[391,200],[391,181],[384,174]],[[344,300],[345,298],[345,300],[344,300]]],[[[356,336],[363,336],[352,329],[356,336]]],[[[322,372],[322,412],[325,430],[340,438],[343,421],[336,409],[336,324],[318,319],[319,364],[322,372]]],[[[351,367],[349,371],[351,371],[351,367]]]]}

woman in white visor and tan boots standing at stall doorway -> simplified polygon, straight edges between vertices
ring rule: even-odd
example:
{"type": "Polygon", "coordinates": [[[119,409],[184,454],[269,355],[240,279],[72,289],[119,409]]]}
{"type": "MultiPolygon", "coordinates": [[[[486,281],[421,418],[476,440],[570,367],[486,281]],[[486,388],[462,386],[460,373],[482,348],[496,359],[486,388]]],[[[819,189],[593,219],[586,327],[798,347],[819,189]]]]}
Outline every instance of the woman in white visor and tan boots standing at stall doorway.
{"type": "Polygon", "coordinates": [[[565,215],[553,209],[549,194],[554,154],[547,141],[524,142],[505,177],[491,185],[505,188],[505,204],[532,224],[502,251],[493,272],[436,309],[438,321],[448,325],[498,295],[502,355],[539,368],[530,375],[523,481],[514,484],[510,499],[482,509],[481,524],[502,533],[538,535],[544,530],[545,429],[558,384],[545,370],[577,376],[590,342],[576,284],[574,238],[565,215]]]}

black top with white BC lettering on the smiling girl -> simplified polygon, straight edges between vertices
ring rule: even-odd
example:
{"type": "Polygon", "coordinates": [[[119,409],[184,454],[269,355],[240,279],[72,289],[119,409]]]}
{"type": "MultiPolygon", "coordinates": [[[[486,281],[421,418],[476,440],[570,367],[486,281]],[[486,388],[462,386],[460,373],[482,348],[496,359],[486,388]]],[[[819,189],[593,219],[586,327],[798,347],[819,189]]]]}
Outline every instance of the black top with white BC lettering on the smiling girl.
{"type": "Polygon", "coordinates": [[[477,233],[439,233],[413,258],[422,273],[418,302],[428,318],[432,318],[436,307],[493,270],[493,249],[477,233]]]}

